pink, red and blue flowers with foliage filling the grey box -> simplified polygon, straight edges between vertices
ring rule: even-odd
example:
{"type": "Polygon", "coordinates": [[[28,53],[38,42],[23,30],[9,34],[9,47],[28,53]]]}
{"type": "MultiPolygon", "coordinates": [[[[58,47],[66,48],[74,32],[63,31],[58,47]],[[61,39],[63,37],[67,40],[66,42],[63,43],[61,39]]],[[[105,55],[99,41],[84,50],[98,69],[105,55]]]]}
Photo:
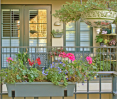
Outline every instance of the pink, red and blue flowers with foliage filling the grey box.
{"type": "MultiPolygon", "coordinates": [[[[29,58],[24,65],[24,60],[18,54],[16,60],[11,57],[7,58],[8,68],[0,70],[0,76],[3,83],[14,84],[17,82],[52,82],[55,85],[60,85],[59,82],[63,82],[60,86],[67,86],[68,82],[84,82],[86,79],[93,79],[98,72],[97,65],[92,62],[91,57],[86,58],[86,62],[82,60],[75,60],[75,56],[72,53],[61,52],[59,57],[68,58],[72,62],[63,61],[58,64],[51,64],[48,69],[42,68],[38,70],[34,68],[35,64],[40,65],[40,58],[35,61],[31,61],[29,58]]],[[[23,53],[23,56],[27,58],[27,53],[23,53]]]]}

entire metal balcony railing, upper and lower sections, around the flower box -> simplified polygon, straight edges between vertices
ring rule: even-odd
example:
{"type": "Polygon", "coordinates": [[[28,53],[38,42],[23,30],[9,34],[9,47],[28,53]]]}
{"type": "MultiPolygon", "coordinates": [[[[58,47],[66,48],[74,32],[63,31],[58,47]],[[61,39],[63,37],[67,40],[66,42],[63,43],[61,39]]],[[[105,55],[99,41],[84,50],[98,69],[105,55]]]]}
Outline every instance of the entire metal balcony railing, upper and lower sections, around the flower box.
{"type": "MultiPolygon", "coordinates": [[[[86,85],[86,90],[81,91],[79,89],[79,84],[76,84],[74,94],[75,99],[77,98],[77,94],[86,94],[87,99],[90,99],[91,94],[98,94],[101,99],[102,94],[112,94],[112,98],[116,99],[116,67],[117,67],[117,48],[116,47],[2,47],[1,48],[1,68],[7,67],[6,58],[12,57],[16,58],[16,54],[18,52],[27,52],[31,60],[35,60],[37,57],[41,59],[41,65],[36,66],[38,69],[42,67],[48,68],[50,64],[56,64],[65,60],[64,58],[59,57],[61,52],[73,53],[75,55],[76,60],[86,61],[87,56],[91,56],[93,62],[98,66],[100,72],[98,72],[98,76],[96,80],[86,81],[84,84],[86,85]],[[105,80],[106,79],[106,80],[105,80]],[[105,91],[102,88],[102,84],[108,81],[110,84],[112,83],[111,90],[105,91]],[[98,91],[91,91],[90,84],[91,83],[99,83],[98,91]]],[[[68,60],[71,62],[70,60],[68,60]]],[[[2,90],[2,89],[1,89],[2,90]]],[[[7,93],[0,93],[0,95],[5,95],[7,93]]],[[[52,97],[50,97],[51,99],[52,97]]],[[[24,98],[25,99],[25,98],[24,98]]],[[[37,99],[35,97],[35,99],[37,99]]],[[[63,97],[64,99],[64,97],[63,97]]]]}

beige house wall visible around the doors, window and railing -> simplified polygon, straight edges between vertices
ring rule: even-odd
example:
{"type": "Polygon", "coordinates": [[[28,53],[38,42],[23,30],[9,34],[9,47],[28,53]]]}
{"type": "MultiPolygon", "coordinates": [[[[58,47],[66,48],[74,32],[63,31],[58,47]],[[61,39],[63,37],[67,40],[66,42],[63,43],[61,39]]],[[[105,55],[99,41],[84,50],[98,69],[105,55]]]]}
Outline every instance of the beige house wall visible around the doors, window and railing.
{"type": "MultiPolygon", "coordinates": [[[[72,2],[72,0],[1,0],[1,4],[52,4],[52,14],[55,12],[55,10],[60,9],[62,4],[64,4],[66,1],[72,2]]],[[[77,0],[80,1],[80,0],[77,0]]],[[[84,0],[83,0],[84,1],[84,0]]],[[[61,26],[54,26],[54,22],[58,21],[58,19],[54,18],[52,16],[52,29],[63,29],[63,24],[61,26]]],[[[93,29],[93,46],[96,46],[95,43],[95,29],[93,29]]],[[[52,38],[52,46],[63,46],[63,38],[52,38]]],[[[99,86],[98,83],[95,84],[95,86],[99,86]]],[[[110,83],[107,85],[110,86],[110,83]]],[[[80,89],[86,89],[86,86],[82,86],[80,89]]],[[[95,87],[91,87],[95,88],[95,87]]],[[[106,87],[105,87],[106,88],[106,87]]],[[[5,88],[3,88],[4,90],[5,88]]],[[[109,89],[111,90],[111,88],[109,89]]],[[[73,97],[65,97],[64,99],[74,99],[75,96],[73,97]]],[[[9,98],[7,95],[3,95],[3,99],[12,99],[9,98]]],[[[24,99],[24,98],[15,98],[15,99],[24,99]]],[[[32,97],[28,97],[26,99],[34,99],[32,97]]],[[[50,99],[49,97],[40,97],[39,99],[50,99]]],[[[52,99],[62,99],[62,97],[53,97],[52,99]]],[[[87,99],[86,94],[79,94],[77,95],[77,99],[87,99]]],[[[89,99],[99,99],[98,94],[91,94],[89,95],[89,99]]],[[[109,94],[102,94],[102,99],[111,99],[111,95],[109,94]]]]}

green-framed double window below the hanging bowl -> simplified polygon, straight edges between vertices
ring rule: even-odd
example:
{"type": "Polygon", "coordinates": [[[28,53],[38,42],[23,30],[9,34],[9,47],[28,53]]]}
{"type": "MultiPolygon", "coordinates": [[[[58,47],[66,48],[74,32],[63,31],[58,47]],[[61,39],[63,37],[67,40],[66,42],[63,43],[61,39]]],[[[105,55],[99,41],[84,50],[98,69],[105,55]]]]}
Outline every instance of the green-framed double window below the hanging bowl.
{"type": "MultiPolygon", "coordinates": [[[[89,27],[85,22],[68,22],[65,25],[65,46],[92,46],[93,45],[93,28],[89,27]]],[[[83,51],[82,48],[78,49],[83,51]]],[[[75,48],[69,48],[69,51],[75,51],[75,48]]],[[[84,48],[84,51],[90,51],[84,48]]]]}

